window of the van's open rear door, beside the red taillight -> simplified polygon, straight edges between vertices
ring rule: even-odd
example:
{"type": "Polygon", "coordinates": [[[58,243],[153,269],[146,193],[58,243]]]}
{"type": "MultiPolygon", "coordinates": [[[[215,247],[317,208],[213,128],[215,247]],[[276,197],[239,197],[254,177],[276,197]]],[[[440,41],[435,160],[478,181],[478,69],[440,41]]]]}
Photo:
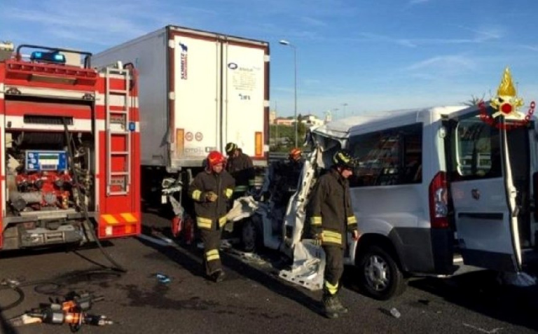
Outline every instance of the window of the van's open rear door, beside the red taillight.
{"type": "Polygon", "coordinates": [[[499,130],[478,117],[460,120],[453,132],[455,179],[489,179],[502,176],[499,130]]]}

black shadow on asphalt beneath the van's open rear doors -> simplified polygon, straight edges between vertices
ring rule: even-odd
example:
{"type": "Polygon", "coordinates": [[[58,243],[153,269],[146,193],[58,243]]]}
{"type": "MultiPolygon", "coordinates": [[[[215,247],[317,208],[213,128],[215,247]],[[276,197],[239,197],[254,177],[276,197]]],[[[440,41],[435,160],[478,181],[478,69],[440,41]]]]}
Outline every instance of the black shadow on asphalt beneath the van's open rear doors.
{"type": "Polygon", "coordinates": [[[537,286],[504,286],[498,283],[495,272],[486,270],[450,279],[416,279],[408,285],[492,319],[538,330],[537,286]]]}

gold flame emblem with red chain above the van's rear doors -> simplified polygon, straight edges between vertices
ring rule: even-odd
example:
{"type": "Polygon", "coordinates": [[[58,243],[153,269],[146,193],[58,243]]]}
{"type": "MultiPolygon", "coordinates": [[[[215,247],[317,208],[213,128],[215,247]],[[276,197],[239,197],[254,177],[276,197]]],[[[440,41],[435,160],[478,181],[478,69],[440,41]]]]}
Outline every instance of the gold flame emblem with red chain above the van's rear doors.
{"type": "Polygon", "coordinates": [[[495,110],[492,115],[488,114],[483,101],[478,103],[481,120],[488,123],[488,125],[497,127],[497,129],[511,130],[516,127],[523,127],[530,122],[536,103],[534,103],[534,101],[530,103],[527,115],[518,111],[518,108],[523,106],[523,99],[517,97],[510,70],[506,67],[506,69],[504,69],[501,84],[499,85],[499,88],[497,88],[497,96],[491,99],[490,106],[495,110]],[[499,122],[500,118],[509,120],[509,123],[499,122]]]}

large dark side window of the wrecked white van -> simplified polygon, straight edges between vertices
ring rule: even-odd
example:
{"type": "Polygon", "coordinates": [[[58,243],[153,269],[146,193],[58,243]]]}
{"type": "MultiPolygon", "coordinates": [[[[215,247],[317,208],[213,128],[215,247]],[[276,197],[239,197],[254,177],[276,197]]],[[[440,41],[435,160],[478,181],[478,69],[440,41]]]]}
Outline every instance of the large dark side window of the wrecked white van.
{"type": "Polygon", "coordinates": [[[422,182],[422,123],[350,137],[359,167],[351,187],[422,182]]]}

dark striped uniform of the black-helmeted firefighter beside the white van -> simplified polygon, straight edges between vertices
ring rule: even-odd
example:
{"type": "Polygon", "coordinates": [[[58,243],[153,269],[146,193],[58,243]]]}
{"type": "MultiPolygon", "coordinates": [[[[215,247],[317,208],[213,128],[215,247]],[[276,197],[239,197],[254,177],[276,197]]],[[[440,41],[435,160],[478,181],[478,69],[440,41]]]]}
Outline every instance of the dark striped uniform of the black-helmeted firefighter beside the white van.
{"type": "Polygon", "coordinates": [[[346,232],[357,230],[349,182],[336,169],[331,169],[317,181],[310,199],[310,227],[312,233],[322,237],[326,254],[325,289],[334,295],[344,272],[346,232]]]}

